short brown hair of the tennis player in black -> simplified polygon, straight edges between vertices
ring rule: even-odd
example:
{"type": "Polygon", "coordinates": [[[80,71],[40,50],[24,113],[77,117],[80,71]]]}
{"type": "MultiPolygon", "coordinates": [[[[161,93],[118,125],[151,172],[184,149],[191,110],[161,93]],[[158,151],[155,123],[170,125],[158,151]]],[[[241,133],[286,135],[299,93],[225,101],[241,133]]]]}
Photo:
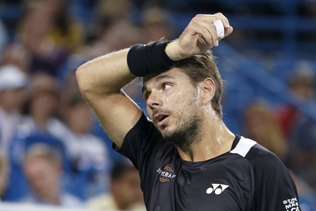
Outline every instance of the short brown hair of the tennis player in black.
{"type": "Polygon", "coordinates": [[[179,60],[174,67],[181,69],[189,76],[194,87],[197,87],[198,82],[203,81],[205,78],[212,78],[215,83],[215,93],[211,100],[212,108],[216,114],[222,118],[222,78],[219,73],[215,58],[209,50],[203,54],[194,55],[185,59],[179,60]]]}

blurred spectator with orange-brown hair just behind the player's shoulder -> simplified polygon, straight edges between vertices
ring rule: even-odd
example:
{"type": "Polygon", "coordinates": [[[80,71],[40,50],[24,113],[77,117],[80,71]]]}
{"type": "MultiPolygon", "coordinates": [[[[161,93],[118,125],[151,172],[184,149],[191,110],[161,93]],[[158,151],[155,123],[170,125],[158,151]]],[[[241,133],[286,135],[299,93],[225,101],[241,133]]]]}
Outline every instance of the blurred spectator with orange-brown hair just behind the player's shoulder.
{"type": "Polygon", "coordinates": [[[244,130],[245,137],[257,141],[284,160],[288,146],[276,115],[267,102],[257,101],[246,107],[244,130]]]}

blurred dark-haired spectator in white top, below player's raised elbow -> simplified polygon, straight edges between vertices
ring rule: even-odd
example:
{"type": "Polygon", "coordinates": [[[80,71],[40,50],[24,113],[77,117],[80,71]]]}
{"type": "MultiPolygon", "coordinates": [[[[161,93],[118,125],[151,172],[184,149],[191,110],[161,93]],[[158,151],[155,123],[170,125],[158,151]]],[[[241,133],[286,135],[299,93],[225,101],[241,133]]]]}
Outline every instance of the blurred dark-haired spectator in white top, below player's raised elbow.
{"type": "Polygon", "coordinates": [[[90,133],[93,112],[82,96],[70,97],[64,111],[67,126],[52,134],[64,142],[70,153],[74,193],[86,199],[107,189],[111,161],[103,140],[90,133]]]}

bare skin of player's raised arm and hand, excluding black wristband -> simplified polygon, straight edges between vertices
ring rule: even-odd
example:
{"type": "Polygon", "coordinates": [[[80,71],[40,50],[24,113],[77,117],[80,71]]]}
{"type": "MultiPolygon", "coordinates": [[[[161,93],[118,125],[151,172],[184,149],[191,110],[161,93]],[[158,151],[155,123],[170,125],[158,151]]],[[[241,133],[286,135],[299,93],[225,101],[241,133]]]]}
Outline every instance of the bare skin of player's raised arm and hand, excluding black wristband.
{"type": "MultiPolygon", "coordinates": [[[[218,46],[213,22],[221,19],[225,36],[233,31],[221,13],[195,16],[182,35],[167,45],[165,52],[173,60],[204,53],[218,46]],[[214,45],[213,45],[214,43],[214,45]]],[[[98,116],[106,133],[121,146],[127,132],[137,123],[142,111],[121,89],[136,78],[128,68],[129,49],[98,57],[80,66],[76,78],[83,97],[98,116]]]]}

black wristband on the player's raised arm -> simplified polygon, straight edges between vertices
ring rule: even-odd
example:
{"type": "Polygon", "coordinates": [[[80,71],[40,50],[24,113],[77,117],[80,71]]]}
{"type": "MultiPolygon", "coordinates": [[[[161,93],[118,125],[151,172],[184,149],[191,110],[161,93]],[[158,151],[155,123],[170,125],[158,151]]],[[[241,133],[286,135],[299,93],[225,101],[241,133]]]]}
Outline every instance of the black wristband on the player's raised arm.
{"type": "Polygon", "coordinates": [[[165,52],[169,42],[171,41],[132,46],[127,53],[127,65],[131,73],[138,77],[143,77],[148,73],[167,71],[172,65],[177,63],[177,61],[170,59],[165,52]]]}

